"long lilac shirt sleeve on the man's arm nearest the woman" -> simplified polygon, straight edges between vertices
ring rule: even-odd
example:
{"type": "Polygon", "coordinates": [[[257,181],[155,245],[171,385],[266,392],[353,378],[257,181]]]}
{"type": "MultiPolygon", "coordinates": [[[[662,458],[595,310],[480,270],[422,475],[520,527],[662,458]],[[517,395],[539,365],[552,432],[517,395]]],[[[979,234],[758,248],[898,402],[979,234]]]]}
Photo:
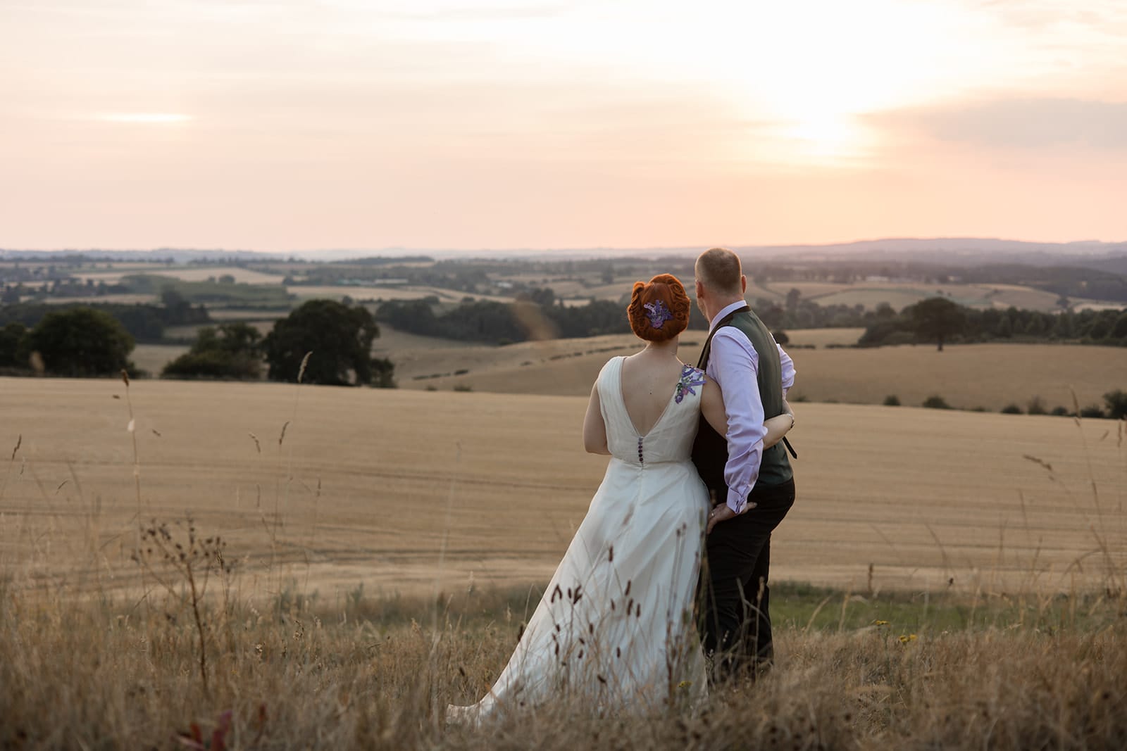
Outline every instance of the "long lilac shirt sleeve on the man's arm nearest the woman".
{"type": "Polygon", "coordinates": [[[758,356],[744,332],[726,327],[712,337],[708,370],[724,392],[724,410],[728,417],[728,463],[724,468],[728,508],[743,513],[747,495],[760,476],[763,439],[767,435],[756,379],[758,356]]]}

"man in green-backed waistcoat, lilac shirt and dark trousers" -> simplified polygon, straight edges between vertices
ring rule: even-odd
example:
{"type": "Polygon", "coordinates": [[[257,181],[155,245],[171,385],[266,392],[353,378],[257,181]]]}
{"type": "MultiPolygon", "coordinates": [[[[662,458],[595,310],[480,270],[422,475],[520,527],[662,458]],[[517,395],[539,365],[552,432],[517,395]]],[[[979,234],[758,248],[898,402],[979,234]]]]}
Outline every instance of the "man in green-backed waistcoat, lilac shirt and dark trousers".
{"type": "Polygon", "coordinates": [[[739,257],[712,248],[696,259],[696,304],[710,329],[698,367],[724,391],[728,435],[701,420],[693,463],[712,493],[702,571],[706,653],[719,679],[749,673],[773,656],[771,531],[795,502],[795,481],[782,442],[763,449],[764,420],[783,413],[795,367],[744,302],[739,257]]]}

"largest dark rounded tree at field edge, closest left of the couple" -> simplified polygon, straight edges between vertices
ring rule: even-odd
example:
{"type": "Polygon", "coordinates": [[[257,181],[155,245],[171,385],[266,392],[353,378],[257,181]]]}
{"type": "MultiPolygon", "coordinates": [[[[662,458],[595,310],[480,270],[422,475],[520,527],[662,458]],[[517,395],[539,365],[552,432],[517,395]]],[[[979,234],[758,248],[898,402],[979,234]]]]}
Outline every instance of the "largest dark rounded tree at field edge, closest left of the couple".
{"type": "Polygon", "coordinates": [[[263,343],[269,378],[296,381],[302,359],[312,352],[304,383],[358,386],[390,382],[390,375],[382,375],[383,363],[372,359],[372,341],[379,336],[380,328],[366,307],[311,299],[277,321],[266,336],[263,343]]]}

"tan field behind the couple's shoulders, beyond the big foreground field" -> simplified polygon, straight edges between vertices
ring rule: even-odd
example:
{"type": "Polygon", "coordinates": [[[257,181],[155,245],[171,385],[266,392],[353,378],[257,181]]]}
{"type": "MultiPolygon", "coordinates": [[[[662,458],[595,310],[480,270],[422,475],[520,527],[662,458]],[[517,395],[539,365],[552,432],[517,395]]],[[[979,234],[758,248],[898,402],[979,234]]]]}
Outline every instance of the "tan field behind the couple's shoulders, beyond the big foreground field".
{"type": "MultiPolygon", "coordinates": [[[[855,329],[844,330],[852,337],[855,329]]],[[[801,331],[788,332],[806,343],[801,331]]],[[[833,334],[811,334],[831,343],[833,334]]],[[[695,363],[703,332],[682,336],[681,359],[695,363]]],[[[844,342],[842,342],[844,343],[844,342]]],[[[523,342],[507,347],[463,347],[392,352],[400,386],[514,394],[582,395],[610,357],[640,349],[629,336],[523,342]],[[453,375],[456,370],[467,370],[453,375]],[[437,376],[437,377],[432,377],[437,376]]],[[[793,396],[813,402],[880,404],[896,394],[903,404],[919,405],[939,394],[952,406],[997,411],[1006,404],[1024,408],[1033,396],[1046,405],[1073,408],[1102,403],[1102,395],[1127,383],[1127,348],[1081,345],[951,345],[876,349],[793,349],[798,369],[793,396]]]]}

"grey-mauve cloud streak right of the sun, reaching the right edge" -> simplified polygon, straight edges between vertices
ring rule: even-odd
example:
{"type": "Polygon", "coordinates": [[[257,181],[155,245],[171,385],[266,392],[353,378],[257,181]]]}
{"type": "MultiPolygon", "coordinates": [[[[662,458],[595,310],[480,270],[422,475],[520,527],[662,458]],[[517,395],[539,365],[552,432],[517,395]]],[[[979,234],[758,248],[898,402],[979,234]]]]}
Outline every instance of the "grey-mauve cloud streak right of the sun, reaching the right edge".
{"type": "Polygon", "coordinates": [[[1127,149],[1127,102],[994,99],[872,115],[873,125],[992,149],[1127,149]]]}

